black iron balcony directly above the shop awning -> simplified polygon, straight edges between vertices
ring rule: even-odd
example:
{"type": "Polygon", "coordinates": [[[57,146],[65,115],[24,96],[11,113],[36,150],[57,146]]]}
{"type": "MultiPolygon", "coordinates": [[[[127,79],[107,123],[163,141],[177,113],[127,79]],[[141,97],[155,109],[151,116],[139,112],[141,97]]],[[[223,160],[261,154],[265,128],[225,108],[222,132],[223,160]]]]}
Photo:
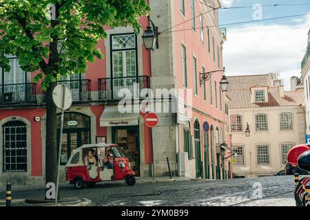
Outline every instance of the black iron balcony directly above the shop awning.
{"type": "Polygon", "coordinates": [[[126,97],[146,98],[141,96],[141,90],[147,88],[149,88],[148,76],[99,78],[99,100],[121,100],[126,90],[128,91],[126,97]]]}

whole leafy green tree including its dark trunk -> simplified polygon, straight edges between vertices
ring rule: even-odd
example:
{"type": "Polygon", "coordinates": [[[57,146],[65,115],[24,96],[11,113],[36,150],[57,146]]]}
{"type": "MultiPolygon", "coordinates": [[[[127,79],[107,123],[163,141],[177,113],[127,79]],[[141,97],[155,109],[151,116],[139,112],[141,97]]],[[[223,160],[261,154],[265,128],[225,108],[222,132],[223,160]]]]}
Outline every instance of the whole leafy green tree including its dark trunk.
{"type": "Polygon", "coordinates": [[[96,48],[103,27],[132,26],[149,12],[145,0],[0,0],[0,67],[10,71],[14,54],[25,72],[38,72],[46,95],[46,182],[56,183],[56,80],[83,74],[87,62],[103,58],[96,48]],[[47,16],[50,14],[50,17],[47,16]]]}

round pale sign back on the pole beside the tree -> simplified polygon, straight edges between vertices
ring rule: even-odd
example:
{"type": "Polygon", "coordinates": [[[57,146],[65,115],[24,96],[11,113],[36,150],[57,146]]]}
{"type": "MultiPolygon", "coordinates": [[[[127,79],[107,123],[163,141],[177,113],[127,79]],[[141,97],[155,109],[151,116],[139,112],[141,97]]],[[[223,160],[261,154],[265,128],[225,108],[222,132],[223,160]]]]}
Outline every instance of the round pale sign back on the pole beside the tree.
{"type": "Polygon", "coordinates": [[[71,107],[73,101],[72,94],[66,85],[57,85],[53,90],[52,96],[57,108],[66,110],[71,107]],[[63,93],[65,93],[65,96],[63,96],[63,93]]]}

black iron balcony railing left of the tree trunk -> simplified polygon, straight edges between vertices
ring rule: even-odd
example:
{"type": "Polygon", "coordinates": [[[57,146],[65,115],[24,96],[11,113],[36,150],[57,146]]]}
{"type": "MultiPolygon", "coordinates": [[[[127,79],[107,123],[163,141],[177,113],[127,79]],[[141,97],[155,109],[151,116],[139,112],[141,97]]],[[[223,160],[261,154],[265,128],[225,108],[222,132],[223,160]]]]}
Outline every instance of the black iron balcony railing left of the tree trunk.
{"type": "Polygon", "coordinates": [[[19,83],[0,85],[0,105],[12,104],[35,104],[37,103],[37,92],[35,83],[19,83]]]}

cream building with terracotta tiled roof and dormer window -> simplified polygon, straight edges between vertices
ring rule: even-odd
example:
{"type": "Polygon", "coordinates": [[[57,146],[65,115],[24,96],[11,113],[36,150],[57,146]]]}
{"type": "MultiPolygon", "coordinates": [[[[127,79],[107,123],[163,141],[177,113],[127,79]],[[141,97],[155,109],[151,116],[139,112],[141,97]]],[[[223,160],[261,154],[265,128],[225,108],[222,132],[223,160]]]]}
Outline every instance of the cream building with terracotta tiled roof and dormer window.
{"type": "Polygon", "coordinates": [[[285,168],[287,151],[304,143],[304,89],[285,91],[278,74],[227,79],[234,173],[275,175],[285,168]]]}

